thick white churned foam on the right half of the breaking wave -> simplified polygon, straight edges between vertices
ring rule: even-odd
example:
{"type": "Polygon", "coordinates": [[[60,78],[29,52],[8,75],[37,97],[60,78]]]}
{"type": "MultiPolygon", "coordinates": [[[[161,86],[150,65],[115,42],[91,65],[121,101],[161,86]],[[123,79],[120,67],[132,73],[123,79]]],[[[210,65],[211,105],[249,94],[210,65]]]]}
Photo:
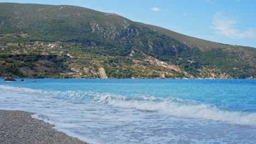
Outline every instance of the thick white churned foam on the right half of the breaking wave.
{"type": "Polygon", "coordinates": [[[243,113],[219,110],[205,104],[184,105],[172,101],[121,101],[112,100],[109,104],[130,109],[157,111],[171,116],[187,118],[203,118],[213,121],[226,122],[238,125],[251,125],[256,127],[256,113],[243,113]]]}

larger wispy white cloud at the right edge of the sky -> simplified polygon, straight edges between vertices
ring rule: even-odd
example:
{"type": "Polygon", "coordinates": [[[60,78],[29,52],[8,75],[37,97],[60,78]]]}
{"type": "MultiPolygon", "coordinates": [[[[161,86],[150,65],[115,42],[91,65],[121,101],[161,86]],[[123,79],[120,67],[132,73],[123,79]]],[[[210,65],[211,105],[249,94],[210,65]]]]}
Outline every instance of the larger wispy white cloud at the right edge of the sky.
{"type": "Polygon", "coordinates": [[[255,38],[256,31],[253,28],[249,28],[245,31],[241,31],[236,28],[237,21],[224,17],[222,13],[217,12],[213,15],[212,29],[216,29],[217,33],[229,38],[255,38]]]}

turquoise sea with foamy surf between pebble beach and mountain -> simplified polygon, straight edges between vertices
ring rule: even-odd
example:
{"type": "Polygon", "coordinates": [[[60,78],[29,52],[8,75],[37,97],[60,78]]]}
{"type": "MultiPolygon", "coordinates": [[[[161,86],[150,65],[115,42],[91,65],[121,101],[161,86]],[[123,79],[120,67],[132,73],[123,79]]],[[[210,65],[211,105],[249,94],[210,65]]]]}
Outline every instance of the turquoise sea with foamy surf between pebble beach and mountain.
{"type": "Polygon", "coordinates": [[[17,80],[0,109],[89,143],[256,143],[256,80],[17,80]]]}

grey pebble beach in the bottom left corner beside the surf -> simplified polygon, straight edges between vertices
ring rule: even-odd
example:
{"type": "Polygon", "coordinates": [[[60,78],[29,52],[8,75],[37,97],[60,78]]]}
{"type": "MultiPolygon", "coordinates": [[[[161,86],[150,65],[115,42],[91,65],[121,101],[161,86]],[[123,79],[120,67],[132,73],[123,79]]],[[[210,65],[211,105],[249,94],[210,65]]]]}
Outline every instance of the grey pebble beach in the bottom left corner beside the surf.
{"type": "Polygon", "coordinates": [[[88,144],[55,130],[53,124],[32,118],[33,114],[18,110],[0,110],[0,143],[88,144]]]}

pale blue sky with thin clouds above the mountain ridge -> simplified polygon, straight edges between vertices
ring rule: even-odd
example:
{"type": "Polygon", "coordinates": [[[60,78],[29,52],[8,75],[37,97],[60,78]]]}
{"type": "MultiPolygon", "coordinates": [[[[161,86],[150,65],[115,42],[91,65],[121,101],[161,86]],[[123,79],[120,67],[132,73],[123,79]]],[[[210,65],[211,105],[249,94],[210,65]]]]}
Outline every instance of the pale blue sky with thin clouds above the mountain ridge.
{"type": "Polygon", "coordinates": [[[256,1],[251,0],[9,0],[0,2],[78,5],[115,13],[218,43],[256,47],[256,1]]]}

